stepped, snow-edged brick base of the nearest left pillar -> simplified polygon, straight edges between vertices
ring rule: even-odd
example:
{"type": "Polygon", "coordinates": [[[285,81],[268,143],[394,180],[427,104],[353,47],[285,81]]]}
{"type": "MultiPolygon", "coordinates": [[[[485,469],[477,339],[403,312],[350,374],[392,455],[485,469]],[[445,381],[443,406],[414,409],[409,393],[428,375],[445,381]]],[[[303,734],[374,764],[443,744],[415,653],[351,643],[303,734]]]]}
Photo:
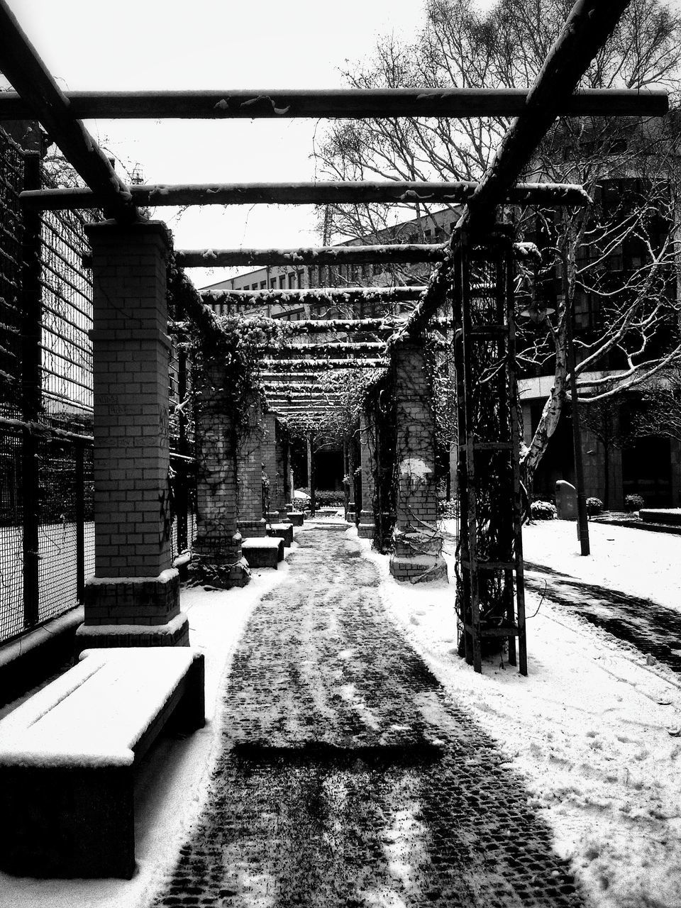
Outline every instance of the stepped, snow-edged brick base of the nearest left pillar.
{"type": "Polygon", "coordinates": [[[76,649],[100,646],[189,646],[189,621],[180,611],[180,575],[90,577],[85,620],[76,649]]]}

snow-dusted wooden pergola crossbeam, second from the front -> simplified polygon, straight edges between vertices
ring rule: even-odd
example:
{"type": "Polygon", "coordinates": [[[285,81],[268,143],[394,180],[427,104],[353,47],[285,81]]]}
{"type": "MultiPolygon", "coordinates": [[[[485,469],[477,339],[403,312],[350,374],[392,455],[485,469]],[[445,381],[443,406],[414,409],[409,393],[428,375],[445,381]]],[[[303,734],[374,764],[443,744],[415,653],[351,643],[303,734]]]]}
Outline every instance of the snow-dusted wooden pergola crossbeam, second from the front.
{"type": "MultiPolygon", "coordinates": [[[[186,183],[131,186],[137,205],[323,205],[362,202],[431,202],[461,204],[478,183],[186,183]]],[[[90,189],[44,189],[21,193],[29,208],[65,210],[97,208],[105,199],[90,189]]],[[[511,204],[587,205],[589,197],[573,183],[518,183],[508,190],[511,204]]]]}

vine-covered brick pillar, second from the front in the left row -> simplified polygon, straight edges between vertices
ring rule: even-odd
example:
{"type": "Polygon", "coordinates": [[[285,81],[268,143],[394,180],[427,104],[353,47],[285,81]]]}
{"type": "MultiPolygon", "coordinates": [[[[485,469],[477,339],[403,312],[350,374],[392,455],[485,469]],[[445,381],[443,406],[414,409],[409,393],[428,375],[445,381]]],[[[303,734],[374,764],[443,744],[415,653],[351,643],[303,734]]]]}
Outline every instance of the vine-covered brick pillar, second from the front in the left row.
{"type": "Polygon", "coordinates": [[[224,366],[207,362],[197,401],[198,532],[192,577],[216,587],[244,587],[251,578],[237,528],[235,438],[224,366]]]}

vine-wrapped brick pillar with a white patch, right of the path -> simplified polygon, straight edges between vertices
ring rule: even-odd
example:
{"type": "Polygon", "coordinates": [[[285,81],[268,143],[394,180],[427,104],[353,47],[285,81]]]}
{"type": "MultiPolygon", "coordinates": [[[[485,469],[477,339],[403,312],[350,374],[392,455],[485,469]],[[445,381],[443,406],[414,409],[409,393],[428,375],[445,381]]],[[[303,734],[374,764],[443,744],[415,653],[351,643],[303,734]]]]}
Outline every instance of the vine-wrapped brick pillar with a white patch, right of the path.
{"type": "Polygon", "coordinates": [[[397,525],[390,573],[399,580],[447,577],[437,531],[435,415],[423,347],[401,343],[393,353],[397,412],[397,525]]]}

